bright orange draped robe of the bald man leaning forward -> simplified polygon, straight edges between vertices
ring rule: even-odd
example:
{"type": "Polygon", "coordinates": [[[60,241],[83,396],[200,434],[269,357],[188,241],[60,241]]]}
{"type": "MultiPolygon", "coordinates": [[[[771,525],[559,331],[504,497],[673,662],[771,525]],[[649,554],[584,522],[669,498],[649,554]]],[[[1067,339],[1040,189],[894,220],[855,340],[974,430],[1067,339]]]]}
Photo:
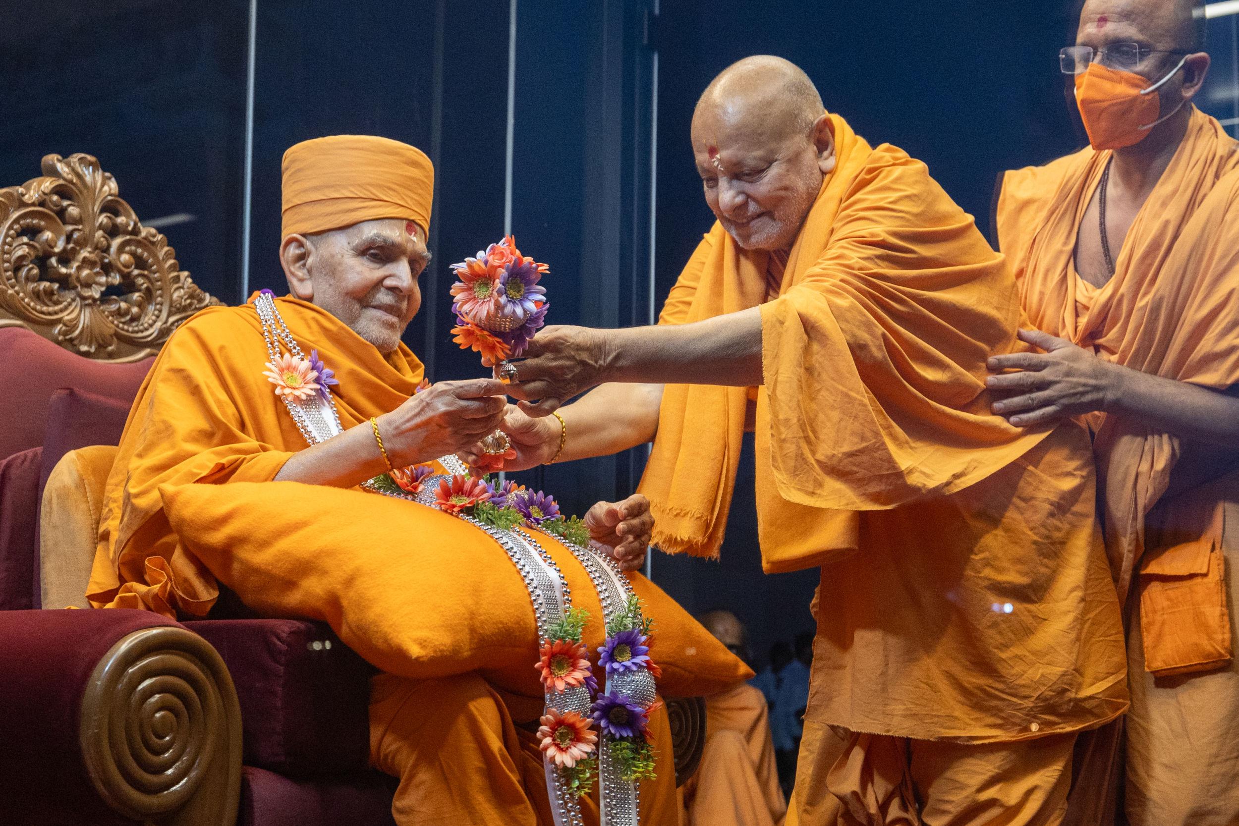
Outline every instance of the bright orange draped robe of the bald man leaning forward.
{"type": "MultiPolygon", "coordinates": [[[[762,306],[763,563],[821,566],[807,727],[1001,742],[1099,726],[1127,692],[1087,433],[989,412],[986,358],[1023,322],[1015,280],[923,163],[831,119],[838,165],[778,297],[762,303],[767,254],[715,224],[660,320],[762,306]]],[[[641,485],[660,547],[721,546],[746,394],[665,388],[641,485]]]]}

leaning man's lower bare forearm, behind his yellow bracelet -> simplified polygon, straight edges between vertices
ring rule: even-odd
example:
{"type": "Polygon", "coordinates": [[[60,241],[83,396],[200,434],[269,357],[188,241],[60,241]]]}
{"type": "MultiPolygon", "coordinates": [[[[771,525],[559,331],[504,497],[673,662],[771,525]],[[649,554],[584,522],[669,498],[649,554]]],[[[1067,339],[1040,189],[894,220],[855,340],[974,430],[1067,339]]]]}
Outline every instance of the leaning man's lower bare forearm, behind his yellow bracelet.
{"type": "Polygon", "coordinates": [[[643,445],[658,431],[660,384],[603,384],[563,407],[567,426],[560,462],[610,456],[643,445]]]}

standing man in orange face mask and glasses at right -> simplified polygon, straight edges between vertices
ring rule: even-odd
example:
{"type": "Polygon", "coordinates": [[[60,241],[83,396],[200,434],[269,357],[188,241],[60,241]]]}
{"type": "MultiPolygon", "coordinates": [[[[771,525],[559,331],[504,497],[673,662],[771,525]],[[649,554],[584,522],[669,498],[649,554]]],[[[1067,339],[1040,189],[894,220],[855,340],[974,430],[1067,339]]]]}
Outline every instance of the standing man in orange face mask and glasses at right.
{"type": "Polygon", "coordinates": [[[997,202],[1038,352],[990,360],[994,410],[1087,421],[1125,606],[1126,739],[1095,738],[1080,822],[1239,822],[1239,151],[1192,105],[1202,12],[1085,2],[1061,59],[1090,146],[1007,172],[997,202]]]}

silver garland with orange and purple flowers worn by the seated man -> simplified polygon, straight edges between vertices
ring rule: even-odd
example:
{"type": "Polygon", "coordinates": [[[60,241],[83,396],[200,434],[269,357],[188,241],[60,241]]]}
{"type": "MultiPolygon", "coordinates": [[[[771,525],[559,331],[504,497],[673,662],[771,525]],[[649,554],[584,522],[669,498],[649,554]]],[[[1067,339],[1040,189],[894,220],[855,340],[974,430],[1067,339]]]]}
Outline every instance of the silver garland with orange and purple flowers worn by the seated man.
{"type": "MultiPolygon", "coordinates": [[[[506,248],[514,250],[510,244],[506,248]]],[[[528,263],[538,271],[538,265],[519,253],[510,260],[520,266],[528,263]]],[[[302,354],[273,298],[264,292],[255,300],[269,357],[264,375],[306,441],[318,443],[343,431],[332,399],[332,376],[316,352],[310,358],[302,354]]],[[[535,311],[544,307],[539,303],[535,311]]],[[[508,556],[529,592],[538,628],[538,638],[530,643],[539,656],[530,665],[544,690],[539,739],[555,822],[584,826],[579,798],[597,783],[603,826],[636,826],[638,784],[654,776],[647,731],[655,701],[654,665],[650,622],[616,561],[591,542],[580,519],[560,513],[553,497],[488,477],[473,478],[455,456],[393,468],[362,487],[461,519],[508,556]],[[597,622],[606,627],[597,663],[605,674],[601,687],[584,643],[585,628],[593,619],[574,608],[563,571],[535,534],[553,536],[567,549],[597,592],[602,608],[597,622]]]]}

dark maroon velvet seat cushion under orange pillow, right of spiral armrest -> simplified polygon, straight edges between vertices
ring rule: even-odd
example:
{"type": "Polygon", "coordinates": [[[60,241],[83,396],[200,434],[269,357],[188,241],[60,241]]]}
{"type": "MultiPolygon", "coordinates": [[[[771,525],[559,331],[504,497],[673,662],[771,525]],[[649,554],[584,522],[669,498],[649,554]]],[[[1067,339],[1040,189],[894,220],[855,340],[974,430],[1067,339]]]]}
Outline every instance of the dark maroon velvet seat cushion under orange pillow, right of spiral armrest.
{"type": "Polygon", "coordinates": [[[228,666],[240,701],[245,765],[294,776],[368,769],[374,669],[327,625],[204,619],[185,627],[228,666]]]}

